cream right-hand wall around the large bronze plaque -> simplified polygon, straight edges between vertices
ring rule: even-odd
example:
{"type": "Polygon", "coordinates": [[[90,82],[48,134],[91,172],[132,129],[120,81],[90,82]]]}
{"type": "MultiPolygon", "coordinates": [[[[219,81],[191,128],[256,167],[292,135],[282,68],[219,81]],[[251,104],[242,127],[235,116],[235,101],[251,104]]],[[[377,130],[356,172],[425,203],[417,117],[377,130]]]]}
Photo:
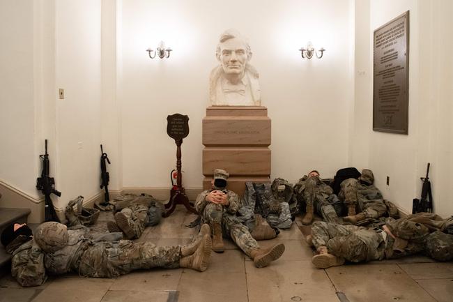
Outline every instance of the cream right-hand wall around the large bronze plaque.
{"type": "Polygon", "coordinates": [[[376,186],[404,211],[420,197],[420,176],[431,162],[436,213],[449,216],[452,168],[452,13],[449,1],[356,1],[355,112],[351,163],[369,167],[376,186]],[[408,135],[372,131],[372,39],[374,29],[410,10],[408,135]],[[358,17],[359,15],[369,15],[358,17]],[[368,33],[362,31],[368,28],[368,33]],[[437,47],[433,45],[445,45],[437,47]],[[436,54],[434,54],[436,53],[436,54]],[[390,186],[385,178],[390,176],[390,186]]]}

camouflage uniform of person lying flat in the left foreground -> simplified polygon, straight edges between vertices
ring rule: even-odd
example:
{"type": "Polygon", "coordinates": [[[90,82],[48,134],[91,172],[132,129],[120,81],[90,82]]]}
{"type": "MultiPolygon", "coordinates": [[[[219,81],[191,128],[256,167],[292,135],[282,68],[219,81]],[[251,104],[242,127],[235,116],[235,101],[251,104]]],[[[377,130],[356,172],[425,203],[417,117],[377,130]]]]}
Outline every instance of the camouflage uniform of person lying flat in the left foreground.
{"type": "Polygon", "coordinates": [[[179,267],[181,246],[118,241],[121,233],[92,236],[86,227],[68,230],[68,234],[66,246],[54,252],[43,252],[33,239],[15,249],[11,273],[17,282],[24,287],[41,285],[47,279],[46,273],[74,271],[86,277],[112,278],[135,269],[179,267]]]}

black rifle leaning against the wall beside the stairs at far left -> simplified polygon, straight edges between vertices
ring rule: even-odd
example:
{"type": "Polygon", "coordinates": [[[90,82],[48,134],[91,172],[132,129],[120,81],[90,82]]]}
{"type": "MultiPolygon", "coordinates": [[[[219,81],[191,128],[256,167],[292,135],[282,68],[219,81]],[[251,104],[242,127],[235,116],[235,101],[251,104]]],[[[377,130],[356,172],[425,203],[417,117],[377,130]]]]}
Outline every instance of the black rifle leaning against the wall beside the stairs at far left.
{"type": "Polygon", "coordinates": [[[41,172],[41,177],[36,179],[36,188],[43,192],[43,195],[45,196],[45,221],[60,222],[58,216],[56,215],[52,199],[50,198],[51,194],[55,194],[60,197],[61,192],[55,190],[54,178],[49,177],[49,153],[47,153],[47,139],[45,140],[45,154],[41,154],[39,157],[43,158],[43,172],[41,172]]]}

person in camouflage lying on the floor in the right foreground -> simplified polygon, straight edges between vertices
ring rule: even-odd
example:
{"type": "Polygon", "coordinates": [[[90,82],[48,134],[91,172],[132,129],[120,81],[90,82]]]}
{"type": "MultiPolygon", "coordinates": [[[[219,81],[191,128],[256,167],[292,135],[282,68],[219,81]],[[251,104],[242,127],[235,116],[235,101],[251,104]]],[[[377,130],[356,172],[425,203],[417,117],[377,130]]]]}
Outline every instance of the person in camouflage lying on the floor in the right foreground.
{"type": "Polygon", "coordinates": [[[350,262],[392,259],[424,252],[438,261],[453,259],[453,218],[417,213],[406,218],[387,218],[382,229],[314,222],[307,243],[318,255],[314,266],[326,269],[350,262]],[[444,232],[443,232],[444,231],[444,232]]]}

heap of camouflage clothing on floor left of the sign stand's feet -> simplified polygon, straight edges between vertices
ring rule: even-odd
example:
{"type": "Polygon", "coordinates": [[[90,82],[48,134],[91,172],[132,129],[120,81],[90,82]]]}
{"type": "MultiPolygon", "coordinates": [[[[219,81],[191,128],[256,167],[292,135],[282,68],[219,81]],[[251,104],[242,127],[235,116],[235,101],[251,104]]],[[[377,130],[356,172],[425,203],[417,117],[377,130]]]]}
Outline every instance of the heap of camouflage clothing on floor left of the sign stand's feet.
{"type": "Polygon", "coordinates": [[[138,239],[144,229],[149,225],[157,225],[162,215],[162,204],[151,195],[137,196],[125,194],[114,200],[115,211],[121,211],[128,220],[134,236],[130,239],[138,239]]]}

